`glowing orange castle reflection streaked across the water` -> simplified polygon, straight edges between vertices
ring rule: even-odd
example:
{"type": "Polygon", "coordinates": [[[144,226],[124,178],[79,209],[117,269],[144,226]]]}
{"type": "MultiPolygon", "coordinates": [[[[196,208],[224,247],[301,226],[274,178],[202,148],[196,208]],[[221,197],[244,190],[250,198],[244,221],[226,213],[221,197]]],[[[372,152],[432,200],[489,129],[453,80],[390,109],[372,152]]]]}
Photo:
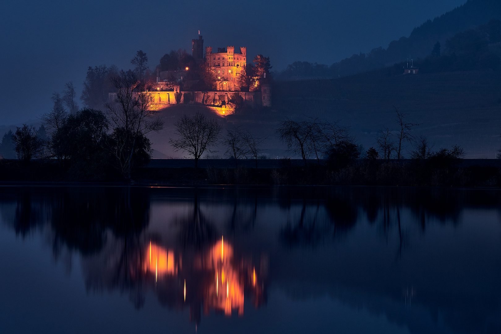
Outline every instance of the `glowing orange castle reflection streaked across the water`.
{"type": "MultiPolygon", "coordinates": [[[[139,269],[139,267],[136,267],[139,269]]],[[[266,272],[266,270],[264,270],[266,272]]],[[[193,256],[183,256],[152,241],[145,249],[141,272],[160,298],[173,298],[178,306],[190,306],[190,320],[200,321],[200,304],[205,314],[213,309],[231,316],[243,315],[247,294],[258,307],[264,302],[265,283],[250,259],[237,259],[224,238],[193,256]],[[160,296],[161,295],[161,296],[160,296]]]]}

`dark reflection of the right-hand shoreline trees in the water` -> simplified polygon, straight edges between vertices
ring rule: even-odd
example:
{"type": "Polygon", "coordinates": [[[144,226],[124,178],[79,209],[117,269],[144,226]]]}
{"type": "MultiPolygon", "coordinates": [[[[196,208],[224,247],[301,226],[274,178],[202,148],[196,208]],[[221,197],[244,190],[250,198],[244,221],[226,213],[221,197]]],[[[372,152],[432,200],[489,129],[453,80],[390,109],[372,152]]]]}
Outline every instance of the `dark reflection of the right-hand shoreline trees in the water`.
{"type": "Polygon", "coordinates": [[[281,206],[288,210],[294,198],[302,203],[301,212],[288,218],[281,239],[289,246],[315,245],[343,238],[365,212],[371,224],[378,224],[385,237],[391,229],[399,231],[400,249],[405,243],[400,212],[409,210],[424,232],[430,220],[456,225],[465,207],[491,207],[500,201],[498,194],[485,196],[467,190],[432,188],[398,189],[392,187],[332,187],[302,189],[303,193],[283,194],[281,206]],[[480,195],[480,196],[478,196],[480,195]]]}

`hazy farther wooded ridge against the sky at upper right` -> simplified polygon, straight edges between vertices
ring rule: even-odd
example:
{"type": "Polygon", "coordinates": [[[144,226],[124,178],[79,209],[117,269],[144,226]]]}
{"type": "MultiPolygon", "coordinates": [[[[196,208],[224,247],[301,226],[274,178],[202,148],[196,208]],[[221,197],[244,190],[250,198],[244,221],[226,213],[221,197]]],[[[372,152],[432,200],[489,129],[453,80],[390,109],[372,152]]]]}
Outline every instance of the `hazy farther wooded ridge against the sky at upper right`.
{"type": "Polygon", "coordinates": [[[278,80],[335,78],[402,63],[409,56],[414,60],[424,59],[431,54],[436,42],[444,46],[447,39],[455,34],[484,25],[491,19],[501,19],[501,2],[468,0],[464,5],[416,27],[409,37],[390,42],[386,49],[378,47],[367,54],[354,54],[331,66],[295,62],[286,70],[276,73],[276,77],[278,80]]]}

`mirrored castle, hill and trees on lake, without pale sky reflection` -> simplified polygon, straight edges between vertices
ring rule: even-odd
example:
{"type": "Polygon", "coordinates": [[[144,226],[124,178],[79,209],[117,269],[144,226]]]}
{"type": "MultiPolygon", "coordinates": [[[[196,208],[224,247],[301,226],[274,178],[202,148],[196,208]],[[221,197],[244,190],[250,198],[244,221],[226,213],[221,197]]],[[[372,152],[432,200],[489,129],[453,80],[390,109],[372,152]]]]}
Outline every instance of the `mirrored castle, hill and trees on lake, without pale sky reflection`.
{"type": "Polygon", "coordinates": [[[80,256],[91,293],[119,291],[142,308],[152,292],[199,324],[202,314],[245,319],[273,285],[411,332],[501,329],[500,203],[497,190],[425,188],[0,192],[2,221],[20,238],[42,234],[58,260],[80,256]]]}

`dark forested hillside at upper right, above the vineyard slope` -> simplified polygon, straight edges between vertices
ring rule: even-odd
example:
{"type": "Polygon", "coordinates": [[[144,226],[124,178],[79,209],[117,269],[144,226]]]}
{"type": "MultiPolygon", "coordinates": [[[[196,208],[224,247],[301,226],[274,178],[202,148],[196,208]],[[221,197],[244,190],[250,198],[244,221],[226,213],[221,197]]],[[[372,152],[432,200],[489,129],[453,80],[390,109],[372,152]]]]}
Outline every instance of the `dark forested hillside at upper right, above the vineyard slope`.
{"type": "MultiPolygon", "coordinates": [[[[489,25],[490,27],[495,27],[496,24],[498,25],[498,23],[496,23],[498,20],[501,20],[501,4],[499,2],[494,0],[468,0],[464,5],[451,12],[437,17],[433,21],[426,21],[420,27],[415,28],[408,38],[401,37],[398,41],[392,41],[386,49],[379,47],[372,49],[367,54],[360,52],[360,54],[354,54],[331,66],[298,61],[288,65],[287,69],[277,73],[276,77],[279,80],[322,77],[337,78],[338,76],[347,76],[377,70],[383,67],[392,66],[393,64],[398,64],[398,74],[401,74],[400,72],[403,72],[400,71],[403,62],[406,61],[409,56],[413,58],[415,62],[429,58],[430,52],[436,50],[435,45],[437,41],[439,44],[447,45],[450,40],[454,40],[454,37],[456,37],[456,41],[453,41],[453,43],[464,43],[464,46],[470,49],[467,53],[471,53],[474,49],[486,49],[488,43],[499,42],[499,39],[496,37],[497,33],[487,33],[487,38],[485,38],[485,36],[480,38],[482,40],[480,43],[484,43],[485,45],[468,45],[477,43],[475,41],[478,41],[478,36],[474,36],[476,35],[475,33],[472,33],[471,30],[467,30],[472,26],[480,28],[489,25]],[[463,36],[460,38],[470,39],[470,41],[459,41],[456,34],[461,32],[463,32],[463,36]]],[[[478,28],[476,30],[478,30],[478,28]]],[[[449,52],[446,54],[448,56],[456,54],[456,56],[461,58],[458,54],[462,54],[465,50],[458,52],[458,50],[454,49],[445,49],[443,51],[449,52]]],[[[485,54],[487,51],[488,50],[482,50],[481,53],[485,54]]],[[[475,62],[476,66],[472,66],[471,62],[464,63],[454,60],[449,60],[448,62],[455,63],[455,66],[442,65],[437,67],[428,63],[415,63],[415,65],[425,66],[425,71],[427,72],[469,70],[472,67],[475,69],[492,69],[498,66],[495,65],[495,63],[498,63],[495,58],[496,57],[493,57],[493,55],[483,55],[481,56],[481,60],[475,62]],[[494,58],[494,60],[491,58],[494,58]],[[494,66],[492,66],[492,62],[494,66]]],[[[444,62],[448,63],[447,61],[444,62]]]]}

